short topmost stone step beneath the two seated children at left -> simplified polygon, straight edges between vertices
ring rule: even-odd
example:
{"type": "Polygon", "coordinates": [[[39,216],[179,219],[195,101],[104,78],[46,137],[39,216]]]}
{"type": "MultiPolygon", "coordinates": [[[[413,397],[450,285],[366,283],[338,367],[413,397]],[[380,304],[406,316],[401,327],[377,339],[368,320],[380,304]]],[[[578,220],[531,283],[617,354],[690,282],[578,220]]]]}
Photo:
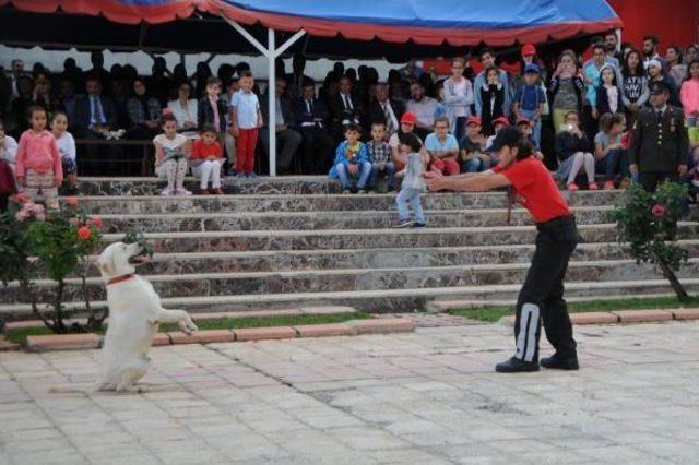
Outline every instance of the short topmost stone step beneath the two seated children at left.
{"type": "MultiPolygon", "coordinates": [[[[150,177],[81,177],[80,191],[85,195],[159,195],[167,182],[150,177]]],[[[199,189],[199,181],[193,177],[185,179],[189,190],[199,189]]],[[[284,176],[260,177],[257,180],[224,177],[222,189],[228,194],[325,194],[340,193],[340,184],[327,176],[284,176]]]]}

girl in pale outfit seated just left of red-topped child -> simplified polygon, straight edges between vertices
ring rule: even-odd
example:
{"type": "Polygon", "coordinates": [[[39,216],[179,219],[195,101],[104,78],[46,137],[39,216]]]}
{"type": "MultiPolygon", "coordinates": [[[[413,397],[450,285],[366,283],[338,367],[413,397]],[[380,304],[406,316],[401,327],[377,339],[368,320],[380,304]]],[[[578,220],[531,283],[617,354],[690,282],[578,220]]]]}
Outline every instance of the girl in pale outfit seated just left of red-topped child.
{"type": "Polygon", "coordinates": [[[191,195],[191,192],[185,189],[191,145],[185,135],[177,133],[177,120],[173,115],[163,117],[163,133],[153,139],[153,145],[155,174],[167,179],[167,187],[161,195],[191,195]]]}

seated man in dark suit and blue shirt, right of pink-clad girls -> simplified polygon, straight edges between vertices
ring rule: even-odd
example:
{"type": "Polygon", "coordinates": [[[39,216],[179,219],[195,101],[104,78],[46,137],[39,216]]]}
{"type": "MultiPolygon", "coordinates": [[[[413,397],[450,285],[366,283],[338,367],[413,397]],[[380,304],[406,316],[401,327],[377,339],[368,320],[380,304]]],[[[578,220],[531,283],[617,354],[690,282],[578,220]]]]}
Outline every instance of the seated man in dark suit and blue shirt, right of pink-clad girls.
{"type": "MultiPolygon", "coordinates": [[[[102,95],[102,83],[96,76],[90,76],[85,81],[85,95],[75,99],[75,119],[72,122],[73,132],[78,139],[100,140],[105,139],[104,131],[117,129],[117,110],[110,98],[102,95]]],[[[84,160],[84,174],[116,174],[114,171],[115,162],[118,157],[117,147],[106,147],[99,150],[95,145],[86,144],[81,151],[81,158],[84,160]],[[100,162],[102,160],[102,162],[100,162]]]]}

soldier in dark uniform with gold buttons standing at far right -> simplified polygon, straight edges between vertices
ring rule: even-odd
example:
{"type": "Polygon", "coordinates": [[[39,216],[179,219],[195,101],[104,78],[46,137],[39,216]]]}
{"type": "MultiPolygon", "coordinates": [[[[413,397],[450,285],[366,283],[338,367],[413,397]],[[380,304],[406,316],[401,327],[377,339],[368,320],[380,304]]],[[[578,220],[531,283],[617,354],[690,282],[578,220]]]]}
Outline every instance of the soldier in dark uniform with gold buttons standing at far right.
{"type": "Polygon", "coordinates": [[[667,105],[667,84],[653,81],[649,86],[651,107],[641,109],[633,123],[629,171],[654,192],[661,182],[679,182],[685,176],[689,140],[682,109],[667,105]]]}

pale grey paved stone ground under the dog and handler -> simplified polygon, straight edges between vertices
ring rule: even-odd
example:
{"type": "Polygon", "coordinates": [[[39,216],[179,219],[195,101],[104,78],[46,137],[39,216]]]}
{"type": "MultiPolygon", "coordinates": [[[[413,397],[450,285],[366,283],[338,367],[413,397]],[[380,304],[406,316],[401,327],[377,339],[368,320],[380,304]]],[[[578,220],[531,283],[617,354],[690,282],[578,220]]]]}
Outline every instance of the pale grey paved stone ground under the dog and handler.
{"type": "Polygon", "coordinates": [[[4,353],[0,463],[697,463],[699,322],[577,336],[583,370],[519,375],[497,324],[155,348],[142,395],[47,393],[96,350],[4,353]]]}

